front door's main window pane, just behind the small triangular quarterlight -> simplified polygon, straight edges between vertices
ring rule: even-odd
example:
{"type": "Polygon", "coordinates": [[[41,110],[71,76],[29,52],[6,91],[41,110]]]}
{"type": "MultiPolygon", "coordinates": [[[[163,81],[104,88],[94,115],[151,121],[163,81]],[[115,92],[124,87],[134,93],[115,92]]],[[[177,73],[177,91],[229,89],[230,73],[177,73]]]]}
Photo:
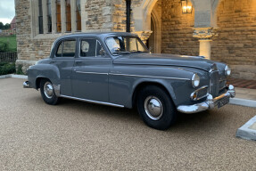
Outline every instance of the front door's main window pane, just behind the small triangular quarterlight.
{"type": "Polygon", "coordinates": [[[95,39],[83,39],[80,44],[81,57],[95,57],[96,56],[96,43],[95,39]]]}

